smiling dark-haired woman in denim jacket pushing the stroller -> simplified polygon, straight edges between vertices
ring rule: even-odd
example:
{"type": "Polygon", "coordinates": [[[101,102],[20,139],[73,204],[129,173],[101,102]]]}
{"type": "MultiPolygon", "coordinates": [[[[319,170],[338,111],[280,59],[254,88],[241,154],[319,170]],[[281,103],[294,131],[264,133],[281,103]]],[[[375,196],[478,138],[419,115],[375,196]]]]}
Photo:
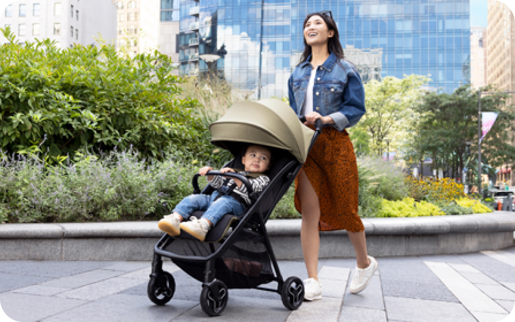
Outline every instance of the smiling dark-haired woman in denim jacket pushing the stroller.
{"type": "Polygon", "coordinates": [[[358,217],[358,176],[354,148],[345,130],[365,114],[365,91],[356,68],[344,60],[330,11],[304,20],[304,52],[288,80],[291,108],[323,130],[295,182],[295,207],[302,213],[301,244],[308,278],[305,299],[322,297],[318,282],[319,230],[346,229],[356,253],[350,292],[363,291],[377,261],[367,255],[365,227],[358,217]]]}

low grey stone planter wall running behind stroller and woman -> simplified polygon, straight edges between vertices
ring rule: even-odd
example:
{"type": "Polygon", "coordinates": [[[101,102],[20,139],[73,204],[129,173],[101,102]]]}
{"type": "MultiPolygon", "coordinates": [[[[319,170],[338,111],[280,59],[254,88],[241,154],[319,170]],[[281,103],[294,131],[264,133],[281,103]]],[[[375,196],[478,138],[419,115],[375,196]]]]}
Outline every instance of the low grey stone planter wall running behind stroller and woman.
{"type": "MultiPolygon", "coordinates": [[[[302,259],[300,219],[269,220],[278,259],[302,259]]],[[[364,218],[370,255],[469,253],[512,246],[515,213],[364,218]]],[[[157,221],[0,224],[0,260],[151,260],[163,236],[157,221]]],[[[320,232],[320,258],[354,257],[345,230],[320,232]]]]}

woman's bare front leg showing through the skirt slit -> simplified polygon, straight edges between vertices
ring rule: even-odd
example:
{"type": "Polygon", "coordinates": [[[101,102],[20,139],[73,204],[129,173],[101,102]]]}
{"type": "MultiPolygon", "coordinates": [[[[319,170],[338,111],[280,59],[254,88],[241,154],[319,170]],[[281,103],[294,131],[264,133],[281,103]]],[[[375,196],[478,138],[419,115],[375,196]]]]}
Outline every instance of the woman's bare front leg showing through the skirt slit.
{"type": "Polygon", "coordinates": [[[307,277],[318,280],[318,251],[320,248],[318,222],[320,220],[320,205],[317,193],[303,170],[300,170],[298,180],[297,194],[301,201],[302,213],[300,228],[302,254],[306,264],[307,277]]]}

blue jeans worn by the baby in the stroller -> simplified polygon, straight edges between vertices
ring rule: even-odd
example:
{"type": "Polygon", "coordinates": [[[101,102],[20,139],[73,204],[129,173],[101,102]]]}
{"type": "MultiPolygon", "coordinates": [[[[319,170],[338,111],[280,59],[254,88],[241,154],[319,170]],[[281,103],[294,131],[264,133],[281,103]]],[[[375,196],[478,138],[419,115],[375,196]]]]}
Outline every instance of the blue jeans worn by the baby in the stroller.
{"type": "Polygon", "coordinates": [[[235,216],[240,216],[245,207],[242,206],[236,199],[228,195],[222,195],[216,201],[215,198],[218,191],[212,194],[191,194],[184,198],[177,206],[174,212],[178,212],[182,218],[188,219],[195,210],[205,211],[202,218],[209,220],[216,225],[216,223],[224,217],[226,213],[233,213],[235,216]]]}

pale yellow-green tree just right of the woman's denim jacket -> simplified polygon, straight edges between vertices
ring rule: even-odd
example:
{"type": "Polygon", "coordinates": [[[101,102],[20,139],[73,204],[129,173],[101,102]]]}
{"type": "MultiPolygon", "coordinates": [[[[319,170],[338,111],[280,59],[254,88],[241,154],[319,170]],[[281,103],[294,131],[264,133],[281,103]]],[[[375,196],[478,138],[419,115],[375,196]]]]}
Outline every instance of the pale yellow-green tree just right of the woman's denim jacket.
{"type": "MultiPolygon", "coordinates": [[[[371,138],[371,149],[385,148],[384,140],[392,135],[405,136],[413,118],[413,105],[423,94],[422,86],[428,78],[409,75],[403,79],[385,77],[381,81],[371,80],[365,84],[366,108],[359,126],[367,130],[371,138]]],[[[392,148],[398,144],[392,140],[392,148]]]]}

